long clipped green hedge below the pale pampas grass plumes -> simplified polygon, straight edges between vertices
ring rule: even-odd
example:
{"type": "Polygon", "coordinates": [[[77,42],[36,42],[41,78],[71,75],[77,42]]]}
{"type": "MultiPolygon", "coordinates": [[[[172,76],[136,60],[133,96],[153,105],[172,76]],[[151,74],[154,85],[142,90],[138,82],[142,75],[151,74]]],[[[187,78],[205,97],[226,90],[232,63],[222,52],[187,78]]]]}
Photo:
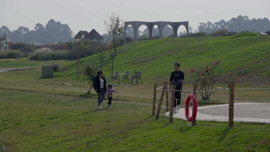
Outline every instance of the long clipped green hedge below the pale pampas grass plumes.
{"type": "Polygon", "coordinates": [[[41,52],[29,55],[30,60],[57,60],[68,59],[68,50],[54,50],[52,52],[41,52]]]}

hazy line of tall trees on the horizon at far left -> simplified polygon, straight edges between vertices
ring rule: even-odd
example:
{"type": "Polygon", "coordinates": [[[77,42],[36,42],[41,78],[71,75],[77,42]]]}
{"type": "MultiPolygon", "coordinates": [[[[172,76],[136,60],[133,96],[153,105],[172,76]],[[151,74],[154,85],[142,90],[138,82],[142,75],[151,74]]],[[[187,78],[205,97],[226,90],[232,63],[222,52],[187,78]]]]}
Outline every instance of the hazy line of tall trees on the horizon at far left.
{"type": "Polygon", "coordinates": [[[48,44],[69,41],[72,31],[66,23],[62,24],[60,21],[50,19],[45,26],[41,23],[35,24],[33,30],[19,26],[16,30],[11,31],[7,26],[1,26],[0,34],[7,34],[12,42],[48,44]]]}

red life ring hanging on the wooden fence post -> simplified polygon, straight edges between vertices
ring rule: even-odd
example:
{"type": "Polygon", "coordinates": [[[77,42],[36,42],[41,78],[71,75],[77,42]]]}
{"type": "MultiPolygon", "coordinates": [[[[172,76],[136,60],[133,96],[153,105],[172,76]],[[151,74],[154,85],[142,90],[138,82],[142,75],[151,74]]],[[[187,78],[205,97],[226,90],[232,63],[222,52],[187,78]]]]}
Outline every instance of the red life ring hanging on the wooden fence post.
{"type": "Polygon", "coordinates": [[[197,115],[197,109],[198,109],[198,104],[197,104],[197,99],[193,94],[189,94],[186,96],[185,99],[185,117],[188,121],[192,121],[196,119],[197,115]],[[192,99],[192,115],[189,115],[189,103],[190,100],[192,99]]]}

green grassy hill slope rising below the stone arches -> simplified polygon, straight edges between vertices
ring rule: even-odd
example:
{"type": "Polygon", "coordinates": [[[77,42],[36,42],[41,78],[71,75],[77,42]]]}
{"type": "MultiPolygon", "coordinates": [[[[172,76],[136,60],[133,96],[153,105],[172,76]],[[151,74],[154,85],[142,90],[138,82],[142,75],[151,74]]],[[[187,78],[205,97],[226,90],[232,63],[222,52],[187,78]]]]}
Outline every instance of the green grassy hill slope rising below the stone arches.
{"type": "MultiPolygon", "coordinates": [[[[138,41],[117,48],[114,71],[142,71],[145,83],[162,82],[178,61],[187,81],[192,82],[191,68],[220,61],[223,79],[268,84],[270,75],[270,36],[240,34],[226,37],[181,37],[138,41]],[[247,35],[247,36],[246,36],[247,35]]],[[[105,53],[103,70],[109,74],[111,61],[105,53]]],[[[80,70],[86,65],[99,66],[99,54],[80,60],[80,70]]],[[[64,75],[76,74],[76,63],[64,68],[64,75]]]]}

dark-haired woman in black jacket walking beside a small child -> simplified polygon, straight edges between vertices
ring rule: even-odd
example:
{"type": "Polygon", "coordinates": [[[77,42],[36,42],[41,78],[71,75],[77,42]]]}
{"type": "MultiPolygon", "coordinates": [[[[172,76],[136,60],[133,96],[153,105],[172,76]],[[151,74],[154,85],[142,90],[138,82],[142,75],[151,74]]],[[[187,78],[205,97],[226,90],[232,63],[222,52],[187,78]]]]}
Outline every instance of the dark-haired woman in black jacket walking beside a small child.
{"type": "Polygon", "coordinates": [[[103,76],[103,71],[100,70],[97,72],[97,76],[94,78],[94,81],[93,81],[93,88],[96,91],[97,96],[98,96],[98,99],[97,99],[98,109],[101,109],[102,101],[104,100],[105,92],[107,89],[106,79],[103,76]]]}

